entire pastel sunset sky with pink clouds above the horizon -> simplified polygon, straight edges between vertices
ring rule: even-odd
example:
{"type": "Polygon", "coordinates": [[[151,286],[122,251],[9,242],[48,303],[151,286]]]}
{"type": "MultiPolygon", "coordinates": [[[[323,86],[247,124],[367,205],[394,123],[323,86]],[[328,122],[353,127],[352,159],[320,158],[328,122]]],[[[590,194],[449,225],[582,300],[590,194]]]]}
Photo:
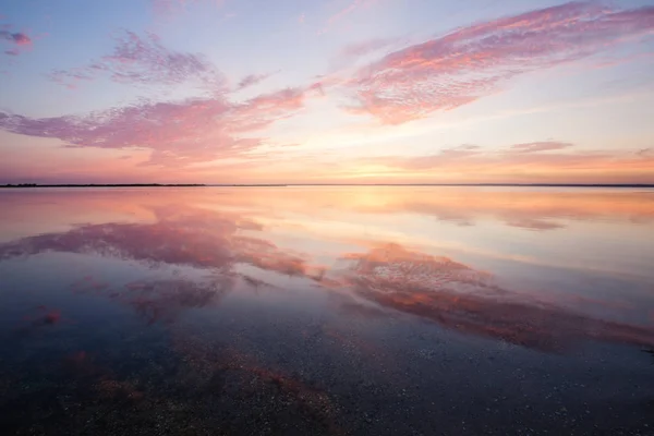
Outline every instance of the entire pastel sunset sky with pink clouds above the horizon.
{"type": "Polygon", "coordinates": [[[654,183],[654,0],[0,0],[0,183],[654,183]]]}

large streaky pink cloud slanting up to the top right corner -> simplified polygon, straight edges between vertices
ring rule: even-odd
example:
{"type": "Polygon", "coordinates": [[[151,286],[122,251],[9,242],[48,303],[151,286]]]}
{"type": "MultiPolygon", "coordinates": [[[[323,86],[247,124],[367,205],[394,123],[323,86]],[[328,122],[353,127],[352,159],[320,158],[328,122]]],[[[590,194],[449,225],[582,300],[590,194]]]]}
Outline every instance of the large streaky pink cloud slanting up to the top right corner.
{"type": "Polygon", "coordinates": [[[654,32],[654,7],[572,2],[459,28],[361,69],[348,87],[355,113],[399,124],[470,104],[502,82],[580,60],[654,32]]]}

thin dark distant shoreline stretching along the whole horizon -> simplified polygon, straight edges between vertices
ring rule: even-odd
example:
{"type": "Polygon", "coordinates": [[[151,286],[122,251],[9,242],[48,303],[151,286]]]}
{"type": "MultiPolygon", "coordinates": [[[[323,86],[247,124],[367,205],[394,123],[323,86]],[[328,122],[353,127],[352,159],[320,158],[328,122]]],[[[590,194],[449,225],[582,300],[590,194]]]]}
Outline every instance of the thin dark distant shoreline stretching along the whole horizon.
{"type": "Polygon", "coordinates": [[[205,183],[86,183],[86,184],[3,184],[5,189],[27,187],[302,187],[302,186],[461,186],[461,187],[654,187],[654,184],[608,183],[258,183],[258,184],[205,184],[205,183]]]}

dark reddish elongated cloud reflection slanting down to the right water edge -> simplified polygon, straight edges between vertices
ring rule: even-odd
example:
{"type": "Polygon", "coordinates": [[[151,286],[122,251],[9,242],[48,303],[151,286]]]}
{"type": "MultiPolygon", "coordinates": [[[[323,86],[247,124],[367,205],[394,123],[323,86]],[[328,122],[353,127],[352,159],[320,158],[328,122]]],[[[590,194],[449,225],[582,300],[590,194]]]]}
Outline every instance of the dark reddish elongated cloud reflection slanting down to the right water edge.
{"type": "Polygon", "coordinates": [[[609,323],[573,313],[534,295],[511,292],[492,276],[447,257],[386,244],[344,256],[341,286],[364,299],[415,314],[469,335],[564,351],[581,340],[654,346],[654,326],[609,323]]]}

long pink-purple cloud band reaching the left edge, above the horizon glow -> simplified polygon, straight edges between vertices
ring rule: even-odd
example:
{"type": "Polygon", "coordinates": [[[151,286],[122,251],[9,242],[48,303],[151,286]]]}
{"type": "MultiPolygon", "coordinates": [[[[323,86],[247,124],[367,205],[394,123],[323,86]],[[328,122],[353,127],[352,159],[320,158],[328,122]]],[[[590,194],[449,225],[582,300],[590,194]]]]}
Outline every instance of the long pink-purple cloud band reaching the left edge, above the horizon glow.
{"type": "Polygon", "coordinates": [[[301,110],[308,92],[282,89],[242,104],[225,97],[145,101],[83,117],[33,119],[0,112],[0,129],[58,138],[66,147],[146,148],[152,150],[147,165],[184,167],[252,153],[264,143],[257,131],[301,110]]]}

